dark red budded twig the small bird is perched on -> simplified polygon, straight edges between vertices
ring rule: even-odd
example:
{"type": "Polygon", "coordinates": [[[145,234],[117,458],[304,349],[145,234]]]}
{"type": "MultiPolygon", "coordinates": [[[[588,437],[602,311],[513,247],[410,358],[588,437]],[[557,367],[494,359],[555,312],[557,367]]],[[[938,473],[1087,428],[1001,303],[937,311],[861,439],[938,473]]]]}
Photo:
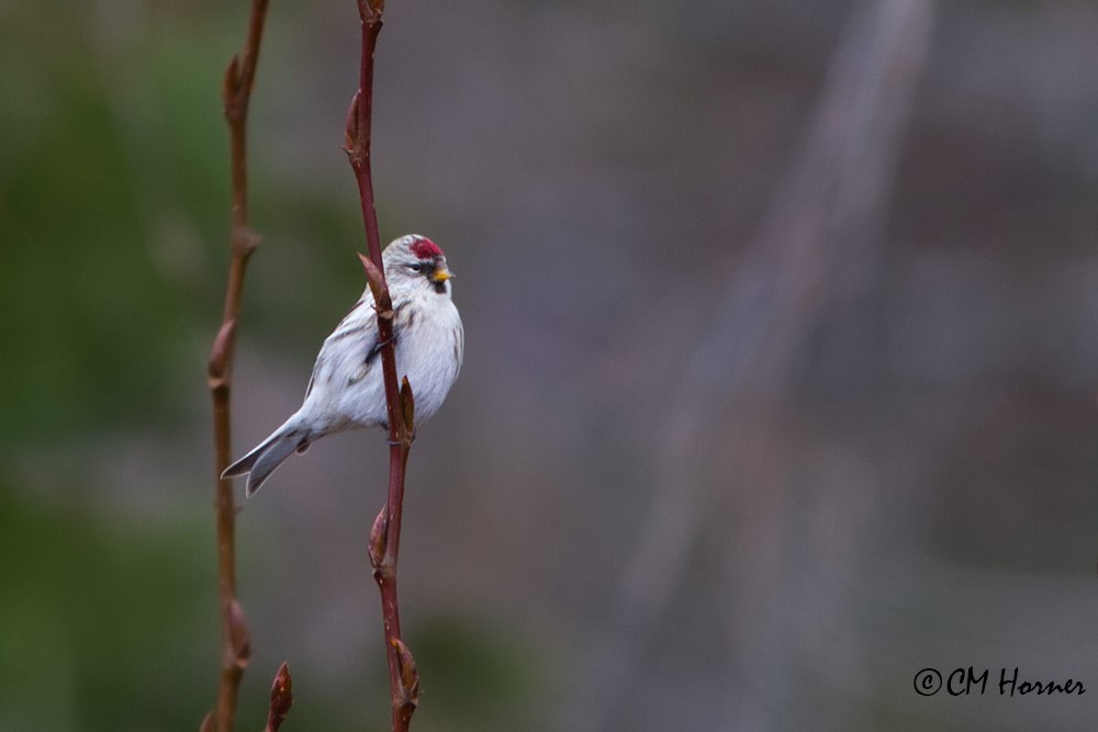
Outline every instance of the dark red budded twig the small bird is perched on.
{"type": "Polygon", "coordinates": [[[389,686],[392,692],[392,729],[407,730],[419,697],[419,675],[415,661],[401,640],[401,615],[396,595],[396,560],[400,552],[401,517],[404,509],[404,473],[412,447],[414,401],[407,379],[400,390],[396,380],[396,354],[393,350],[393,305],[381,260],[381,238],[373,201],[373,178],[370,170],[370,132],[373,111],[373,54],[381,32],[384,0],[358,0],[362,24],[362,55],[359,89],[347,113],[345,149],[350,160],[362,205],[362,222],[369,257],[362,257],[378,312],[378,338],[381,368],[385,384],[385,406],[389,420],[389,493],[384,508],[378,514],[370,531],[369,554],[373,578],[381,593],[384,620],[385,655],[389,663],[389,686]]]}

